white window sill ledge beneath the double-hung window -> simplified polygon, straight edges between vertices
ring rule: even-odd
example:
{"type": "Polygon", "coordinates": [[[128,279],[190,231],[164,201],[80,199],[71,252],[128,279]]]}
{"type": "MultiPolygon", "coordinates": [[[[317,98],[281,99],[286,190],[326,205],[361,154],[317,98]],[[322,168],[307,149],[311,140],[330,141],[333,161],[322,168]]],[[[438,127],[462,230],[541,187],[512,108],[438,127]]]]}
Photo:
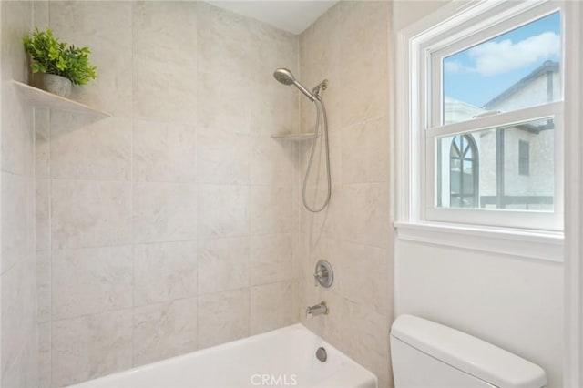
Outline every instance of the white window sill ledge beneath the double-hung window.
{"type": "Polygon", "coordinates": [[[563,262],[561,232],[506,230],[436,222],[394,222],[399,240],[465,250],[481,250],[530,259],[563,262]]]}

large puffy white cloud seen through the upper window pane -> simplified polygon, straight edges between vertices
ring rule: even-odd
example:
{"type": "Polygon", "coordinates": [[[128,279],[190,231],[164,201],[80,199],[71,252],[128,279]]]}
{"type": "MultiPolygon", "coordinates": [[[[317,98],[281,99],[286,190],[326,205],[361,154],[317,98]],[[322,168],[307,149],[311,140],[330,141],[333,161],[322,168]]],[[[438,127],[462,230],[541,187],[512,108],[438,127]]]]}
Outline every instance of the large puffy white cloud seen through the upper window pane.
{"type": "Polygon", "coordinates": [[[445,65],[445,71],[452,73],[476,72],[482,76],[493,76],[530,66],[549,56],[557,56],[560,49],[560,37],[552,32],[513,43],[510,39],[500,42],[486,42],[470,48],[468,54],[474,66],[464,66],[458,61],[445,65]]]}

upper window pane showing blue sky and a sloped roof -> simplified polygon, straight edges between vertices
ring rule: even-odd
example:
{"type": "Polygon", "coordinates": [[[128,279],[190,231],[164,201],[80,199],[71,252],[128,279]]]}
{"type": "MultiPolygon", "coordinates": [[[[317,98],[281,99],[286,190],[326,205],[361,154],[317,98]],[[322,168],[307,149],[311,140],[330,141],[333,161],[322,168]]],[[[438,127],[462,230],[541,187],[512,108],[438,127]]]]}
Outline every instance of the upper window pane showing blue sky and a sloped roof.
{"type": "Polygon", "coordinates": [[[443,124],[562,99],[560,14],[443,59],[443,124]]]}

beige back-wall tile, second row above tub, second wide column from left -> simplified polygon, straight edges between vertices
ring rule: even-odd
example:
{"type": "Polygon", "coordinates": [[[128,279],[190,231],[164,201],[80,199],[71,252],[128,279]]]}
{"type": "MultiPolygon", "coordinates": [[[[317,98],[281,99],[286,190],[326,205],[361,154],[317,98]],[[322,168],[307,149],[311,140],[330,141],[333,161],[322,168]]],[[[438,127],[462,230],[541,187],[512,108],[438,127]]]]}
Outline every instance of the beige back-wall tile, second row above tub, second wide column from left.
{"type": "Polygon", "coordinates": [[[134,247],[134,305],[197,295],[196,241],[134,247]]]}

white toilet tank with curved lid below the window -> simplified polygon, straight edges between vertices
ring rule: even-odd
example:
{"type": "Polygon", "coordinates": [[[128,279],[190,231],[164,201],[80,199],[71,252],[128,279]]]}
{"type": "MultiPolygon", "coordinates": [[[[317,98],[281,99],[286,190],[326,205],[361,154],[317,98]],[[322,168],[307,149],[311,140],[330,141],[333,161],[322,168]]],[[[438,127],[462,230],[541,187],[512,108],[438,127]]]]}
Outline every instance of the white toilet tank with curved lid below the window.
{"type": "Polygon", "coordinates": [[[491,343],[401,315],[391,327],[396,388],[542,388],[545,371],[491,343]]]}

